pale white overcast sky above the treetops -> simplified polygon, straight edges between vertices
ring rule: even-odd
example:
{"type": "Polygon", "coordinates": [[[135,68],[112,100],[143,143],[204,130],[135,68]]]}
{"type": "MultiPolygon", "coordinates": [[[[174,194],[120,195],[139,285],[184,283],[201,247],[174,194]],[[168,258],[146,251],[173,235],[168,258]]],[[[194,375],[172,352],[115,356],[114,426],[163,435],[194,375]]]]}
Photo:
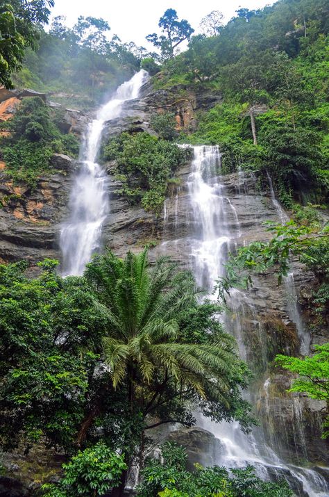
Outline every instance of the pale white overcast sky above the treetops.
{"type": "Polygon", "coordinates": [[[55,0],[52,17],[65,15],[69,26],[79,15],[103,17],[110,24],[110,34],[119,35],[123,42],[133,41],[145,47],[145,36],[159,32],[158,22],[167,8],[177,10],[179,19],[187,19],[197,29],[202,17],[212,10],[220,10],[228,21],[239,6],[252,10],[272,3],[269,0],[55,0]]]}

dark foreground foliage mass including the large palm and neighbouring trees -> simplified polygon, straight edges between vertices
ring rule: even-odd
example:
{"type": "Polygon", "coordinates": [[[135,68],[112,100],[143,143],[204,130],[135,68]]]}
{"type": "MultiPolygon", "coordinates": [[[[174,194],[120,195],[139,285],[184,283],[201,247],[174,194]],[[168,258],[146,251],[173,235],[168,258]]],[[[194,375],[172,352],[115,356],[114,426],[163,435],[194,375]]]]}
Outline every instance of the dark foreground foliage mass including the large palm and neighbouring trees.
{"type": "Polygon", "coordinates": [[[58,276],[50,260],[37,278],[26,268],[0,267],[2,448],[44,441],[74,455],[102,442],[124,470],[148,430],[193,425],[196,406],[255,423],[242,398],[251,373],[189,272],[165,257],[151,268],[145,251],[97,256],[83,277],[58,276]]]}

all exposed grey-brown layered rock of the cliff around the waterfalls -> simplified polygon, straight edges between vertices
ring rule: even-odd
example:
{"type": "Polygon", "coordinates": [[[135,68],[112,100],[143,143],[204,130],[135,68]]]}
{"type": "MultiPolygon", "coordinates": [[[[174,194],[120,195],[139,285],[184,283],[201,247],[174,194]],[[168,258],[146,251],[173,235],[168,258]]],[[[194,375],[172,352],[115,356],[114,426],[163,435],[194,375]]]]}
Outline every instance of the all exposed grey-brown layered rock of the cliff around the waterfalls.
{"type": "MultiPolygon", "coordinates": [[[[142,98],[126,105],[124,117],[108,122],[105,135],[114,135],[126,129],[147,131],[152,113],[167,109],[174,109],[180,129],[193,129],[195,111],[212,106],[220,99],[220,95],[195,95],[185,88],[153,92],[146,85],[142,98]]],[[[81,132],[83,122],[81,115],[69,112],[67,126],[71,129],[81,132]]],[[[69,158],[55,156],[53,168],[58,172],[40,178],[34,190],[13,186],[0,173],[1,262],[24,258],[35,266],[44,257],[60,259],[58,233],[60,222],[68,215],[67,204],[75,167],[78,166],[69,158]]],[[[111,164],[105,167],[110,174],[111,164]]],[[[124,198],[118,197],[115,194],[117,184],[110,176],[110,215],[103,225],[103,245],[119,255],[130,249],[139,250],[146,244],[155,245],[150,250],[151,259],[165,253],[182,267],[191,267],[190,237],[196,231],[198,221],[190,215],[189,172],[189,165],[178,171],[180,186],[172,188],[164,213],[158,218],[146,213],[140,206],[129,206],[124,198]]],[[[232,206],[227,222],[235,244],[238,246],[269,238],[262,222],[279,221],[271,195],[258,190],[252,174],[229,174],[221,177],[221,183],[232,206]]],[[[293,266],[296,299],[300,300],[301,291],[307,293],[314,276],[296,261],[293,266]]],[[[242,321],[244,334],[239,337],[242,341],[240,345],[245,359],[257,375],[251,400],[260,416],[267,442],[294,463],[301,464],[305,460],[313,464],[329,463],[328,444],[320,439],[323,405],[303,396],[289,396],[285,391],[291,378],[287,373],[274,369],[271,362],[276,353],[298,354],[300,347],[301,337],[289,313],[287,288],[285,285],[278,286],[276,275],[269,272],[255,278],[250,293],[240,293],[231,304],[233,308],[228,319],[233,328],[237,320],[240,324],[242,321]]],[[[305,318],[307,321],[307,316],[305,318]]],[[[312,334],[311,348],[323,341],[328,341],[325,330],[312,334]]],[[[182,439],[186,436],[185,432],[181,434],[182,439]]],[[[194,433],[193,437],[198,445],[202,433],[194,433]]],[[[207,443],[212,447],[220,445],[219,441],[212,439],[207,443]]],[[[194,462],[196,456],[193,450],[194,462]]]]}

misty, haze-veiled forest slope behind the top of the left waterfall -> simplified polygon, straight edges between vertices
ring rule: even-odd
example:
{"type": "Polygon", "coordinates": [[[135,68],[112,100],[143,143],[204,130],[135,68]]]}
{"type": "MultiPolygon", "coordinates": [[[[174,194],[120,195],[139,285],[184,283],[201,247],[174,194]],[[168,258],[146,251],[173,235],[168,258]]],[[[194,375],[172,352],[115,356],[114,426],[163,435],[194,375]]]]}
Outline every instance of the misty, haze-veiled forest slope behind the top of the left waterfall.
{"type": "Polygon", "coordinates": [[[93,108],[140,70],[142,58],[150,55],[109,33],[104,19],[80,16],[70,29],[65,17],[56,17],[48,32],[39,27],[37,50],[26,51],[15,86],[47,92],[66,106],[93,108]]]}

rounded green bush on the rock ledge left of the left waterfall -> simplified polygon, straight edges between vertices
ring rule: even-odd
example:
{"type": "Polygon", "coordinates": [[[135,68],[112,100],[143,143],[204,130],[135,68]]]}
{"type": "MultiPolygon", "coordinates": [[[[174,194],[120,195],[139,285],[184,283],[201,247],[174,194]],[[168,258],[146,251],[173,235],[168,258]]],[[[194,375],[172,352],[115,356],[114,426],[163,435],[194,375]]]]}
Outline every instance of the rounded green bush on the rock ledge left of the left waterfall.
{"type": "MultiPolygon", "coordinates": [[[[35,186],[37,177],[50,170],[54,152],[78,154],[75,136],[64,135],[53,122],[51,109],[39,97],[22,100],[15,115],[3,124],[10,136],[1,140],[6,174],[14,181],[35,186]]],[[[57,116],[58,117],[58,116],[57,116]]]]}

